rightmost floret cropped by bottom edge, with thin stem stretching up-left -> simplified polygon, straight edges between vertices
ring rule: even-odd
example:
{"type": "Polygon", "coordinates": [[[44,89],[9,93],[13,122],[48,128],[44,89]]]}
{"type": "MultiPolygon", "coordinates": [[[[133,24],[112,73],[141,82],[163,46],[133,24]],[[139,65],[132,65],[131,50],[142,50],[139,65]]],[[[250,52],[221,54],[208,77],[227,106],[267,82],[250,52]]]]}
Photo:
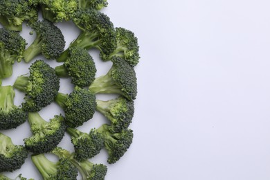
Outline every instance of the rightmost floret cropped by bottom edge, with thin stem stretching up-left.
{"type": "Polygon", "coordinates": [[[107,174],[107,166],[102,164],[94,164],[88,160],[77,161],[73,158],[74,154],[70,153],[67,150],[62,149],[61,147],[56,147],[53,151],[53,154],[61,158],[69,158],[71,163],[76,166],[82,175],[82,180],[104,180],[107,174]]]}

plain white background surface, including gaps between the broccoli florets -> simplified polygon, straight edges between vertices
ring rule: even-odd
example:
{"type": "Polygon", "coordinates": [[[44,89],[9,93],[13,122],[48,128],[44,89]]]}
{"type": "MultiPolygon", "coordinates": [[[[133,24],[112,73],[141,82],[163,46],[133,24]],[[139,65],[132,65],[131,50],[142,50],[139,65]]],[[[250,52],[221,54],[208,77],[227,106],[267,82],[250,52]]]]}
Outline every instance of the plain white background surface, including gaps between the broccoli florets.
{"type": "MultiPolygon", "coordinates": [[[[102,12],[136,34],[141,62],[134,143],[114,165],[107,165],[105,151],[91,160],[108,166],[106,179],[270,179],[269,7],[266,0],[109,1],[102,12]]],[[[79,33],[69,25],[59,25],[66,42],[79,33]]],[[[27,73],[23,64],[3,84],[27,73]]],[[[96,64],[97,75],[111,65],[96,64]]],[[[69,80],[61,83],[60,91],[71,91],[69,80]]],[[[61,111],[52,104],[41,114],[52,118],[52,112],[61,111]]],[[[101,122],[97,113],[80,129],[101,122]]],[[[28,131],[25,123],[4,132],[23,144],[28,131]]],[[[60,145],[72,150],[69,136],[60,145]]],[[[40,179],[30,159],[8,175],[19,173],[40,179]]]]}

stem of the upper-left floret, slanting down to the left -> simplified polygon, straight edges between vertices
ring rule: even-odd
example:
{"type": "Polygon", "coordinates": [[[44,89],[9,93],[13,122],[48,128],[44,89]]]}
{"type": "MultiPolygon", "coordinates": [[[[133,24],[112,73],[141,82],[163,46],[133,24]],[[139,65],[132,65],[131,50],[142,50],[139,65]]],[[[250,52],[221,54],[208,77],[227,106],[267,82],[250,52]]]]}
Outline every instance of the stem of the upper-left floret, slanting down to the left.
{"type": "Polygon", "coordinates": [[[41,35],[37,35],[34,42],[24,51],[24,61],[30,62],[40,53],[42,53],[42,38],[41,35]]]}

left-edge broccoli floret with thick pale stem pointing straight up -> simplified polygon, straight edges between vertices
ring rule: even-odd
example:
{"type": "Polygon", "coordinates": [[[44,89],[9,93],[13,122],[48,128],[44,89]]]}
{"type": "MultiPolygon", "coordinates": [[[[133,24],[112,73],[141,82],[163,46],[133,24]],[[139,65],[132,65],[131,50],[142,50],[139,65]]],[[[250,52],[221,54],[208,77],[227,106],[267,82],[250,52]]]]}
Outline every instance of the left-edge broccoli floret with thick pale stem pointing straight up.
{"type": "Polygon", "coordinates": [[[0,129],[16,128],[26,122],[27,113],[14,105],[12,86],[0,87],[0,129]]]}

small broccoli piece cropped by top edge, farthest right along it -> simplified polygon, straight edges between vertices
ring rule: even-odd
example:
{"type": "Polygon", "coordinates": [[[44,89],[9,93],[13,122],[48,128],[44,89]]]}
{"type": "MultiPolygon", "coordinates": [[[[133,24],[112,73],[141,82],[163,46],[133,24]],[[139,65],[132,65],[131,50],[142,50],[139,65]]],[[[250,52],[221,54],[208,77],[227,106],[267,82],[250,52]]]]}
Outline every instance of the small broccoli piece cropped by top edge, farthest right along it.
{"type": "Polygon", "coordinates": [[[107,7],[107,0],[79,0],[78,6],[81,10],[93,9],[101,10],[107,7]]]}

